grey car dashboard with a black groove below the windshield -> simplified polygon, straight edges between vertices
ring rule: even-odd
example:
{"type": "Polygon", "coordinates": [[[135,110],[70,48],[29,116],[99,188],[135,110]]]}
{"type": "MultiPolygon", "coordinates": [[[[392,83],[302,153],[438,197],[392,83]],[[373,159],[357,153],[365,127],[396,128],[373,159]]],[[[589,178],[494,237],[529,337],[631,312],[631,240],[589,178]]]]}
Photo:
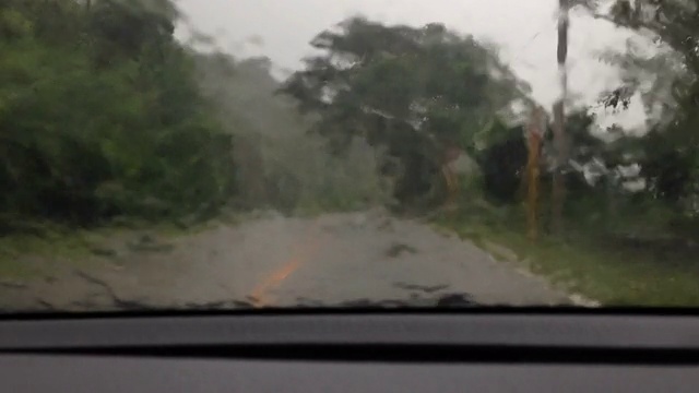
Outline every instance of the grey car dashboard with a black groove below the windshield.
{"type": "Polygon", "coordinates": [[[699,318],[81,315],[0,323],[7,392],[696,392],[699,318]]]}

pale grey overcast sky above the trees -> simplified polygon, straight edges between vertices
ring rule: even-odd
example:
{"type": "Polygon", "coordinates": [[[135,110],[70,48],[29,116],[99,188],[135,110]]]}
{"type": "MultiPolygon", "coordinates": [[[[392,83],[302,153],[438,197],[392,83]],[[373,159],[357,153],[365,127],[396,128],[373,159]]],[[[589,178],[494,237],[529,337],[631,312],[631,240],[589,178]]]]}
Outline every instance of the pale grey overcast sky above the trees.
{"type": "MultiPolygon", "coordinates": [[[[190,23],[216,38],[218,47],[238,56],[268,56],[280,68],[298,69],[308,43],[343,19],[363,14],[386,23],[448,27],[497,43],[501,58],[550,107],[558,94],[556,73],[557,0],[178,0],[190,23]]],[[[185,36],[183,31],[179,32],[185,36]]],[[[618,83],[616,70],[595,53],[624,48],[628,33],[606,22],[573,14],[569,46],[570,92],[594,103],[605,87],[618,83]]],[[[627,127],[642,124],[636,105],[623,115],[627,127]]]]}

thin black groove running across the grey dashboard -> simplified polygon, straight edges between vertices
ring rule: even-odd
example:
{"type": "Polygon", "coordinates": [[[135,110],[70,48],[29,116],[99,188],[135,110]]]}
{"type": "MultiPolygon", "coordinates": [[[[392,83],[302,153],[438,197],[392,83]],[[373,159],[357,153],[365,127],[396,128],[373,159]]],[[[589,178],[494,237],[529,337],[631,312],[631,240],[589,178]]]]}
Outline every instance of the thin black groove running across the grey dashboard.
{"type": "Polygon", "coordinates": [[[140,346],[0,350],[1,356],[375,364],[699,365],[699,350],[454,345],[140,346]]]}

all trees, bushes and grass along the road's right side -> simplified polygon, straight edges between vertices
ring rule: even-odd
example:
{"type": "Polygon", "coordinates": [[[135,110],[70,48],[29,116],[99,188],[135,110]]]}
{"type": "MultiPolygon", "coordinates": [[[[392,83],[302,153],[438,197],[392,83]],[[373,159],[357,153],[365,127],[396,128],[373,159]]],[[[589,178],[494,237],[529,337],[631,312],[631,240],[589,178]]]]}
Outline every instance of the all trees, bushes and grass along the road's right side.
{"type": "Polygon", "coordinates": [[[523,181],[523,135],[534,103],[496,47],[440,24],[350,19],[317,36],[311,45],[321,55],[307,59],[283,92],[301,114],[319,116],[317,132],[334,151],[341,153],[350,135],[386,148],[379,172],[394,179],[399,212],[428,213],[496,258],[603,305],[696,306],[699,21],[690,2],[641,3],[649,12],[627,1],[605,14],[585,5],[595,17],[639,32],[637,45],[656,43],[656,50],[601,53],[624,82],[597,103],[569,110],[564,229],[553,225],[547,124],[535,241],[526,237],[523,181]],[[335,94],[331,100],[328,91],[335,94]],[[624,111],[631,99],[647,108],[644,134],[599,126],[594,109],[624,111]],[[528,109],[516,110],[521,107],[528,109]],[[454,146],[477,169],[461,176],[459,198],[442,210],[448,195],[439,169],[454,146]]]}

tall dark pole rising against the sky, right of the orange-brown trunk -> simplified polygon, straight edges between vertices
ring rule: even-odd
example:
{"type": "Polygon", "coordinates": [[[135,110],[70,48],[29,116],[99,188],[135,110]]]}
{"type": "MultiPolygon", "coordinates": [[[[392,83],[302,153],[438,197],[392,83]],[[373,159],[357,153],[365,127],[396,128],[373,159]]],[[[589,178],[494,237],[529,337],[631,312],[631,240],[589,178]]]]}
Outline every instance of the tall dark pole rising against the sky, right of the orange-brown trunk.
{"type": "Polygon", "coordinates": [[[560,78],[560,97],[554,104],[554,147],[556,151],[556,167],[554,169],[554,184],[552,195],[552,229],[555,234],[562,235],[564,205],[566,201],[565,166],[568,163],[568,141],[566,136],[566,109],[565,103],[568,94],[568,73],[566,59],[568,57],[568,26],[569,26],[569,0],[558,0],[558,73],[560,78]]]}

